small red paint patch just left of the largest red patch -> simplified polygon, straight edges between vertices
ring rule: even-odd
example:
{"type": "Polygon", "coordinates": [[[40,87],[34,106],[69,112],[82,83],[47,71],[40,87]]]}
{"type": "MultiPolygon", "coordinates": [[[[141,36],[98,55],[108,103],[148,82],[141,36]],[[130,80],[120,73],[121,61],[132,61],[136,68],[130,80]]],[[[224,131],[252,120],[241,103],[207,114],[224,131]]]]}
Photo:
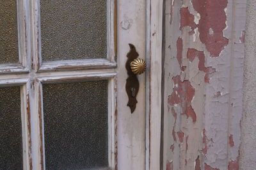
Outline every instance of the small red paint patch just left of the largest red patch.
{"type": "Polygon", "coordinates": [[[192,29],[195,29],[196,24],[194,22],[194,15],[192,15],[189,10],[188,7],[187,8],[181,8],[180,9],[180,30],[184,27],[184,26],[190,26],[192,29]]]}

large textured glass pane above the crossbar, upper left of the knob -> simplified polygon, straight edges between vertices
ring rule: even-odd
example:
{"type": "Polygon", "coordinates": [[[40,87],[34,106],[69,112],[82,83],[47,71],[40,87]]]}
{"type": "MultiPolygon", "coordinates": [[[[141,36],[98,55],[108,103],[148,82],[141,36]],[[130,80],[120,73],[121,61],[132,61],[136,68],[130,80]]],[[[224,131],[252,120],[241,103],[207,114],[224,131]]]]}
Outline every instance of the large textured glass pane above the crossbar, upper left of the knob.
{"type": "Polygon", "coordinates": [[[43,61],[106,58],[107,0],[41,0],[43,61]]]}

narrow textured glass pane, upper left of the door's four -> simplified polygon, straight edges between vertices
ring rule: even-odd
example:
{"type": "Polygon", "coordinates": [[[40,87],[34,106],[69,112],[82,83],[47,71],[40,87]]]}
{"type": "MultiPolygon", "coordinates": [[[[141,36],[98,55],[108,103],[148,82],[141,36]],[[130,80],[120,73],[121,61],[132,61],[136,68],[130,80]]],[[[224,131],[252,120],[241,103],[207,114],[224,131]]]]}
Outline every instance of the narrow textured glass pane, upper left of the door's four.
{"type": "Polygon", "coordinates": [[[0,63],[17,63],[18,31],[16,0],[0,0],[0,63]]]}

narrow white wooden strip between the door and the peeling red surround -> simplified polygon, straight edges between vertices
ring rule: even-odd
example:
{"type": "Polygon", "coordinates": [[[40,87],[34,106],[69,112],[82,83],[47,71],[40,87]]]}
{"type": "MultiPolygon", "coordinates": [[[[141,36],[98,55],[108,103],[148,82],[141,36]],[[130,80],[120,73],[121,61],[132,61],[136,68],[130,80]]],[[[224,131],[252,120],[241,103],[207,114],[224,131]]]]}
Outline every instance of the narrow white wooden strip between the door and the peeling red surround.
{"type": "Polygon", "coordinates": [[[161,83],[162,83],[162,38],[163,38],[163,0],[148,1],[149,19],[147,52],[150,56],[147,63],[150,63],[148,79],[148,100],[147,100],[147,137],[149,144],[148,167],[149,169],[160,169],[161,154],[161,83]]]}

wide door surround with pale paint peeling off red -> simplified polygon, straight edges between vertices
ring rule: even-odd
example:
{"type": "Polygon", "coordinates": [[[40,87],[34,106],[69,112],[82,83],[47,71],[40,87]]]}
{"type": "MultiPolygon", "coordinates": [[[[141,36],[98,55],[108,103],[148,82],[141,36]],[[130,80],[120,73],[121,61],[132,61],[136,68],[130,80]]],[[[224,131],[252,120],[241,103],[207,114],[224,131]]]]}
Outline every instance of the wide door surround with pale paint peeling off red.
{"type": "Polygon", "coordinates": [[[163,169],[239,169],[245,0],[166,0],[163,169]]]}

